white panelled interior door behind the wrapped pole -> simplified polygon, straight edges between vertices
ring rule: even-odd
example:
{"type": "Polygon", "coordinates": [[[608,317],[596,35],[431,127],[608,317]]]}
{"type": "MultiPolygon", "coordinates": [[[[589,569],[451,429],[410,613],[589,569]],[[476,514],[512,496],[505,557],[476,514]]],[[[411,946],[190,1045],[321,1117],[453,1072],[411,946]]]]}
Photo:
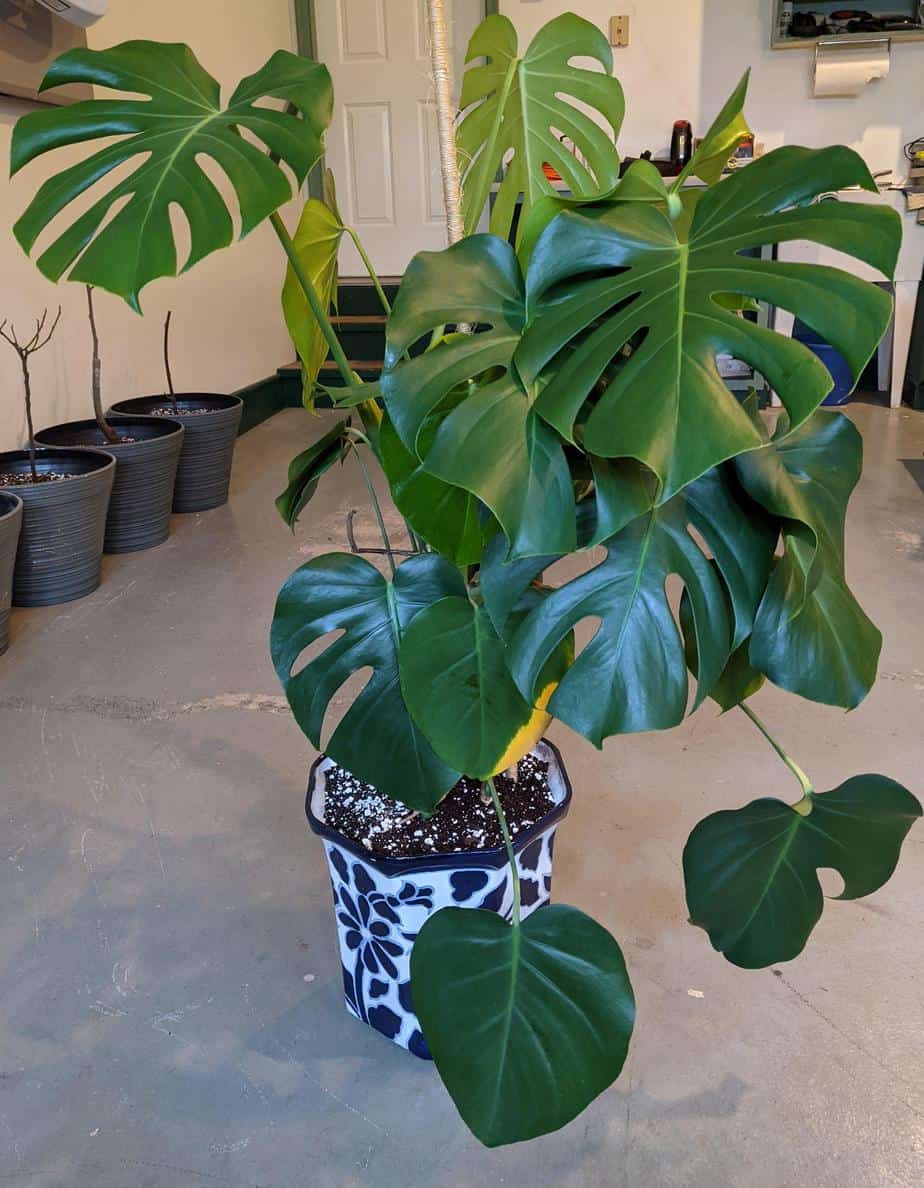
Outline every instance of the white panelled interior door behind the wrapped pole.
{"type": "MultiPolygon", "coordinates": [[[[483,0],[445,0],[456,96],[483,0]]],[[[334,80],[327,164],[343,219],[380,276],[445,247],[426,0],[315,0],[317,57],[334,80]]],[[[347,240],[341,276],[365,268],[347,240]]]]}

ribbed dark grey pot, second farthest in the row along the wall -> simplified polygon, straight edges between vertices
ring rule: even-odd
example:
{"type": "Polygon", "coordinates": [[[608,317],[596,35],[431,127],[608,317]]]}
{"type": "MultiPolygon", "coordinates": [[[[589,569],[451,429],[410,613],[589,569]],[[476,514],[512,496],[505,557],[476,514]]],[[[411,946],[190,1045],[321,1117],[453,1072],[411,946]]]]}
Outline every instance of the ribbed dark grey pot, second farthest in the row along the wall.
{"type": "Polygon", "coordinates": [[[36,441],[59,449],[105,449],[112,454],[116,461],[115,482],[103,551],[153,549],[170,535],[184,429],[166,417],[124,417],[113,428],[137,440],[109,443],[95,421],[72,421],[40,430],[36,441]]]}

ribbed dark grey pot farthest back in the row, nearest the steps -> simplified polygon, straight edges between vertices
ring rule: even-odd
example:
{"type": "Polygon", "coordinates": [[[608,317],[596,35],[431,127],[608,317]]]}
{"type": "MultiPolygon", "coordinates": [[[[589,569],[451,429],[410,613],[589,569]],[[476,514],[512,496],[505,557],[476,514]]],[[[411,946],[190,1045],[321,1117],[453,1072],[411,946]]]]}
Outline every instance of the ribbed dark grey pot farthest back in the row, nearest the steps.
{"type": "Polygon", "coordinates": [[[186,430],[179,455],[175,512],[205,512],[228,501],[234,444],[243,416],[239,396],[184,392],[177,412],[166,396],[138,396],[112,406],[114,417],[169,416],[186,430]]]}

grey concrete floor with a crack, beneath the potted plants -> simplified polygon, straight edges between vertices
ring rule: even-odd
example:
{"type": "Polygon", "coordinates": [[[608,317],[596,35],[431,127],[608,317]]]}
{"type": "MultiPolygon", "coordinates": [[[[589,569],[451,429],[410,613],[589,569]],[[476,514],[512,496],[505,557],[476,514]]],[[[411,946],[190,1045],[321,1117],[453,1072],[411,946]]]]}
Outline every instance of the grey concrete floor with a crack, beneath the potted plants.
{"type": "MultiPolygon", "coordinates": [[[[774,690],[758,703],[819,788],[881,770],[920,795],[924,415],[850,415],[867,441],[850,570],[885,631],[880,678],[847,721],[774,690]]],[[[555,895],[621,940],[639,1001],[621,1079],[570,1126],[486,1151],[432,1066],[347,1016],[303,815],[312,754],[266,651],[281,581],[365,506],[348,467],[295,537],[273,510],[329,421],[255,429],[230,506],[109,558],[84,601],[14,615],[0,1183],[919,1188],[924,827],[879,895],[828,904],[799,960],[728,965],[685,923],[684,840],[707,813],[796,791],[741,715],[707,707],[602,754],[553,734],[576,788],[555,895]]]]}

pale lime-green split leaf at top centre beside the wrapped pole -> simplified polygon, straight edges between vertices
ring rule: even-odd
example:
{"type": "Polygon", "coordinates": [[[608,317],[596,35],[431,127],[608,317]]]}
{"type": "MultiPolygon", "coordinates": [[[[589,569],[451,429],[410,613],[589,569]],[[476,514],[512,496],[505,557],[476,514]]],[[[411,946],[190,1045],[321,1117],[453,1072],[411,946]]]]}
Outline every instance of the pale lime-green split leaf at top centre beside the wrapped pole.
{"type": "Polygon", "coordinates": [[[602,31],[574,13],[550,20],[519,57],[517,31],[507,17],[488,17],[475,30],[466,61],[457,143],[466,230],[477,227],[491,185],[504,176],[491,213],[491,229],[510,236],[518,198],[521,216],[555,188],[549,164],[577,197],[602,194],[619,177],[619,135],[625,103],[612,77],[613,51],[602,31]],[[593,58],[602,70],[575,64],[593,58]],[[591,108],[606,126],[586,110],[591,108]],[[562,143],[568,138],[578,157],[562,143]]]}

